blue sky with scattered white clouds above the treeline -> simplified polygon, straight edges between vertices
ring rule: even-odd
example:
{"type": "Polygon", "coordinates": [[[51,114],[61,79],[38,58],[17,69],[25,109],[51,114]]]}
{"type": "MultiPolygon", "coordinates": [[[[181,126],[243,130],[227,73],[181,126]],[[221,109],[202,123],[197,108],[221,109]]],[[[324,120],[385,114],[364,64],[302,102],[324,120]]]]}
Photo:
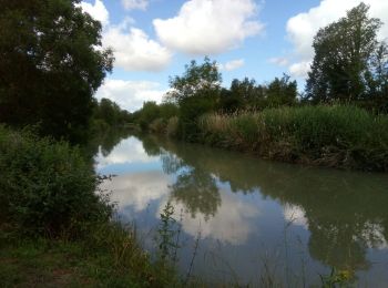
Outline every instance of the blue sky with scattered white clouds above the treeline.
{"type": "MultiPolygon", "coordinates": [[[[182,75],[191,60],[218,63],[223,86],[233,79],[267,83],[287,73],[303,91],[314,58],[314,35],[360,0],[84,0],[82,9],[101,21],[102,44],[114,69],[98,90],[122,109],[160,103],[169,76],[182,75]]],[[[382,20],[388,39],[388,0],[364,0],[382,20]]]]}

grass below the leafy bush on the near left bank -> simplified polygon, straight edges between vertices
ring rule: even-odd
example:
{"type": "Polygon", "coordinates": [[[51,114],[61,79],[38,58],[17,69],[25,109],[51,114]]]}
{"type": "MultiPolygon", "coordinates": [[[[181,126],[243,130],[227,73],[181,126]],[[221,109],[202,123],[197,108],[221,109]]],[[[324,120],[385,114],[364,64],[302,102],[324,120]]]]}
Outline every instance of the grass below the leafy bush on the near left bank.
{"type": "MultiPolygon", "coordinates": [[[[1,233],[0,233],[1,235],[1,233]]],[[[2,238],[1,287],[166,287],[173,271],[155,265],[134,229],[109,223],[86,238],[2,238]]]]}

